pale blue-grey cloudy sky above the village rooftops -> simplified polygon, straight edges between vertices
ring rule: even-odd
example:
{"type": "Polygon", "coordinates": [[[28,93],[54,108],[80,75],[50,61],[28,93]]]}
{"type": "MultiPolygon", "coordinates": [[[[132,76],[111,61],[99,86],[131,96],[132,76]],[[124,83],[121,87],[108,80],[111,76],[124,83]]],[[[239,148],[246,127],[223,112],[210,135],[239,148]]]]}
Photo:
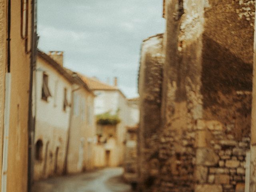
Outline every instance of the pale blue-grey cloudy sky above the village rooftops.
{"type": "Polygon", "coordinates": [[[39,0],[38,47],[64,51],[64,66],[138,96],[143,39],[164,32],[162,0],[39,0]]]}

